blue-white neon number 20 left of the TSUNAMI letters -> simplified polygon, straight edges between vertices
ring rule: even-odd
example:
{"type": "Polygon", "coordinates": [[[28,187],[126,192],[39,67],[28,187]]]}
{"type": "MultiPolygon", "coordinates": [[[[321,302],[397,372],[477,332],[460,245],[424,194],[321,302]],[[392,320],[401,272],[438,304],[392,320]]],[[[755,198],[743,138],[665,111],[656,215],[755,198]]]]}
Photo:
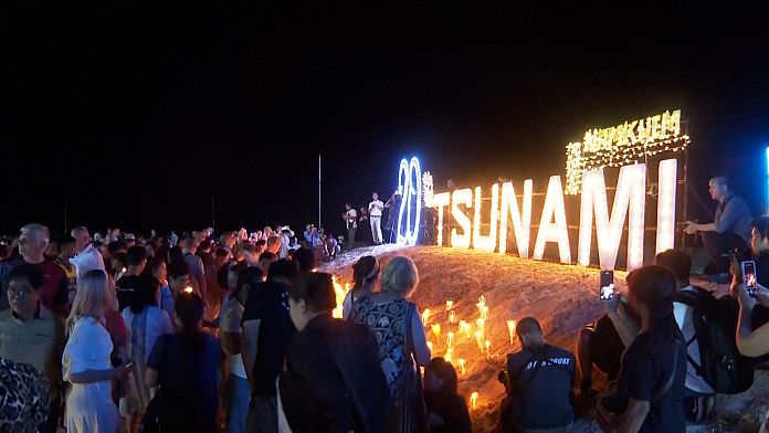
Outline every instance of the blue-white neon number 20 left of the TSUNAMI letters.
{"type": "Polygon", "coordinates": [[[401,193],[401,204],[396,225],[398,230],[396,242],[399,245],[413,246],[419,237],[419,223],[422,213],[422,170],[417,157],[411,158],[411,161],[401,159],[398,169],[398,191],[401,193]],[[411,224],[412,212],[413,225],[411,224]]]}

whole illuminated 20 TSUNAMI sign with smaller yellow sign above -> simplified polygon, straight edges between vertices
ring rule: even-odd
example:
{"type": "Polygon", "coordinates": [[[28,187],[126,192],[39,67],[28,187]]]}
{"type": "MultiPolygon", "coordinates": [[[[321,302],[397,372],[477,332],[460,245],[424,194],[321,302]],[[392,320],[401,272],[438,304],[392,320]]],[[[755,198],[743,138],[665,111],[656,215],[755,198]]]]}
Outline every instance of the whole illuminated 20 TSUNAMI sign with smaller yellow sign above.
{"type": "Polygon", "coordinates": [[[629,271],[640,267],[644,261],[644,235],[647,230],[656,232],[655,252],[674,246],[678,160],[663,158],[686,149],[689,139],[681,133],[681,110],[674,110],[611,128],[591,129],[586,133],[582,142],[570,142],[567,146],[566,184],[561,183],[560,176],[549,178],[531,252],[531,204],[535,196],[531,179],[524,181],[518,196],[510,181],[492,184],[485,191],[485,197],[481,187],[436,193],[430,172],[422,175],[419,182],[419,161],[415,158],[411,162],[402,160],[398,177],[399,190],[403,194],[398,243],[413,245],[417,242],[421,200],[413,196],[422,190],[424,205],[436,211],[438,245],[447,239],[451,246],[456,249],[472,247],[505,254],[508,239],[514,237],[520,257],[529,257],[530,254],[531,258],[542,260],[547,244],[554,243],[560,262],[572,263],[569,229],[578,229],[579,233],[573,240],[577,243],[577,264],[591,264],[594,237],[598,263],[592,264],[613,270],[624,246],[625,267],[629,271]],[[651,157],[656,157],[659,162],[649,166],[646,162],[651,157]],[[610,176],[617,181],[615,189],[613,184],[607,187],[607,167],[619,168],[619,173],[612,172],[610,176]],[[654,172],[655,179],[650,179],[654,172]],[[646,186],[654,183],[654,192],[647,193],[646,186]],[[610,201],[607,193],[611,190],[614,190],[614,197],[610,201]],[[649,215],[647,196],[656,199],[656,212],[649,215]],[[575,207],[579,210],[578,226],[570,226],[567,221],[565,199],[575,200],[572,197],[579,201],[575,207]],[[484,202],[487,205],[483,205],[484,202]],[[412,208],[417,212],[413,218],[409,213],[412,208]],[[488,213],[487,208],[491,209],[488,213]],[[452,221],[445,226],[450,232],[444,237],[446,212],[450,212],[452,221]],[[414,225],[411,225],[412,219],[415,220],[414,225]],[[646,221],[653,221],[651,229],[646,228],[646,221]],[[628,232],[625,245],[622,244],[624,230],[628,232]]]}

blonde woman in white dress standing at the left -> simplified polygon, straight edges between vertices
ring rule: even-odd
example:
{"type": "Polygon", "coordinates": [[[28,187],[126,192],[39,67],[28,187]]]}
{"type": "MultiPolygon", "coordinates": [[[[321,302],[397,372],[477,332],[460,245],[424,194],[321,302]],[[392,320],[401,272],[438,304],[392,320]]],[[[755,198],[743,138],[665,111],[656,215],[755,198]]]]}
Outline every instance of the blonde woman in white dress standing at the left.
{"type": "Polygon", "coordinates": [[[112,400],[112,379],[125,378],[130,365],[110,368],[113,344],[104,325],[108,304],[107,274],[89,271],[77,283],[77,294],[67,318],[69,340],[62,366],[64,380],[72,383],[66,398],[66,429],[70,433],[114,433],[117,408],[112,400]]]}

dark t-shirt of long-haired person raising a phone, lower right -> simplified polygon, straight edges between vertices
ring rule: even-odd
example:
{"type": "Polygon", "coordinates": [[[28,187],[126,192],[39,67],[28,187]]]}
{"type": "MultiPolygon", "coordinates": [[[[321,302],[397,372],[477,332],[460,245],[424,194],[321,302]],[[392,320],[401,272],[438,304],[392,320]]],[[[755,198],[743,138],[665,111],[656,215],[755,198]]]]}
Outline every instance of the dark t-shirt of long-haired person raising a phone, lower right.
{"type": "Polygon", "coordinates": [[[686,346],[671,314],[652,332],[642,332],[622,357],[622,370],[617,380],[620,397],[651,403],[640,432],[684,432],[686,421],[682,401],[686,380],[686,346]],[[674,373],[670,390],[656,402],[659,392],[674,373]]]}

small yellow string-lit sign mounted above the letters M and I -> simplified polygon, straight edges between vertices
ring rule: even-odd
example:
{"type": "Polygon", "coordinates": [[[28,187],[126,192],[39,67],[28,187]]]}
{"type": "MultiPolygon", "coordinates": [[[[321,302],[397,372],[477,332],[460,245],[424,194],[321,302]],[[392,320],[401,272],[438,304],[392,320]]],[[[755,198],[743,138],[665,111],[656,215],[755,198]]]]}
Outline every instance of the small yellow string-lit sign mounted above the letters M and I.
{"type": "Polygon", "coordinates": [[[587,130],[582,141],[566,146],[566,193],[580,192],[586,171],[629,166],[651,156],[686,149],[691,140],[681,133],[680,109],[587,130]]]}

